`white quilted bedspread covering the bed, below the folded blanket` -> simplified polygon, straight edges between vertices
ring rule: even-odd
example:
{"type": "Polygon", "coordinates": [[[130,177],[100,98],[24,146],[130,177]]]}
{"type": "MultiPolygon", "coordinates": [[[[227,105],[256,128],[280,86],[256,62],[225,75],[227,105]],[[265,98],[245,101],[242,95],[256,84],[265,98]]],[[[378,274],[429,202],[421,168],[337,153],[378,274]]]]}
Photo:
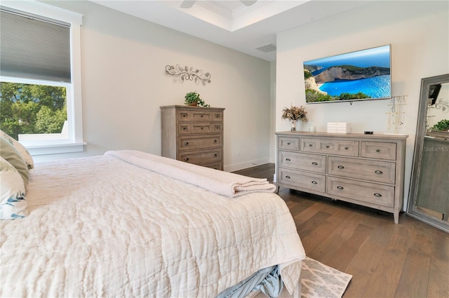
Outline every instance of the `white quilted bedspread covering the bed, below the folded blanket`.
{"type": "Polygon", "coordinates": [[[114,156],[36,165],[29,216],[1,221],[1,297],[215,297],[305,253],[272,193],[228,198],[114,156]]]}

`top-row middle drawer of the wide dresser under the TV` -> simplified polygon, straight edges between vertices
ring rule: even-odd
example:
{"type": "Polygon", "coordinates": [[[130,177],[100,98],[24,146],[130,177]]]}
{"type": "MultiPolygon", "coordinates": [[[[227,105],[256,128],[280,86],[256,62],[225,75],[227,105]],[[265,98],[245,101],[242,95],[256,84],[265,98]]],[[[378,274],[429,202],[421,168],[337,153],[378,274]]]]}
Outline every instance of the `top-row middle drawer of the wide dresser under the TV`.
{"type": "Polygon", "coordinates": [[[358,141],[301,138],[301,151],[358,156],[358,141]]]}

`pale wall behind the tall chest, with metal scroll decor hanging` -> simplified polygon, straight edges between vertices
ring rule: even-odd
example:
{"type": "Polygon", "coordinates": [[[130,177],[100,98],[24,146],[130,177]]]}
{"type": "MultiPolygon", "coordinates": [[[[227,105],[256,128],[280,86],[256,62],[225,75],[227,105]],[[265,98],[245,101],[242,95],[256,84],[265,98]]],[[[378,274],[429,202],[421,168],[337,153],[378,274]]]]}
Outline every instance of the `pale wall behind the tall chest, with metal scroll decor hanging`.
{"type": "Polygon", "coordinates": [[[81,154],[36,156],[36,162],[135,149],[161,154],[161,105],[200,93],[225,108],[225,170],[269,162],[270,63],[88,1],[45,1],[83,14],[81,154]],[[211,83],[181,83],[166,65],[203,69],[211,83]],[[239,155],[237,155],[239,151],[239,155]]]}

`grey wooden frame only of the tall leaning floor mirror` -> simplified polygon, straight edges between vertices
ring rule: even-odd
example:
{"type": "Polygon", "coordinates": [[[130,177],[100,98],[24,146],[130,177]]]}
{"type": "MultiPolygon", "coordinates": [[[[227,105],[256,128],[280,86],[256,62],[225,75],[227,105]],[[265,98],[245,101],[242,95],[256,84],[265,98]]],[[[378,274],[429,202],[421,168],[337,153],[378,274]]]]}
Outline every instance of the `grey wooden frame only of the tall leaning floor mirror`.
{"type": "Polygon", "coordinates": [[[412,175],[410,178],[410,191],[408,193],[408,206],[407,214],[411,217],[426,222],[431,226],[435,226],[449,233],[449,222],[444,222],[443,220],[436,219],[430,215],[421,212],[415,208],[417,202],[418,186],[420,182],[420,170],[421,170],[421,160],[422,151],[424,146],[424,135],[426,134],[426,118],[427,118],[427,106],[429,104],[428,94],[430,86],[434,86],[440,83],[449,83],[449,74],[442,74],[440,76],[431,76],[429,78],[424,78],[421,80],[421,95],[420,95],[420,106],[418,110],[418,121],[416,126],[416,136],[415,136],[415,151],[413,153],[413,168],[412,175]]]}

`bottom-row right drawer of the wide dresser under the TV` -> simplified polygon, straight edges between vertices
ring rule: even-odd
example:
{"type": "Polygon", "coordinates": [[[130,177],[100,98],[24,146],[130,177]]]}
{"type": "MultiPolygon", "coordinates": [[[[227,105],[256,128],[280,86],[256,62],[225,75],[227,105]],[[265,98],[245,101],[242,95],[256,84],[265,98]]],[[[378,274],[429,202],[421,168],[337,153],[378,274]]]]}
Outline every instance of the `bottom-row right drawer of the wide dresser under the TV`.
{"type": "Polygon", "coordinates": [[[328,177],[328,194],[394,207],[394,187],[338,177],[328,177]]]}

